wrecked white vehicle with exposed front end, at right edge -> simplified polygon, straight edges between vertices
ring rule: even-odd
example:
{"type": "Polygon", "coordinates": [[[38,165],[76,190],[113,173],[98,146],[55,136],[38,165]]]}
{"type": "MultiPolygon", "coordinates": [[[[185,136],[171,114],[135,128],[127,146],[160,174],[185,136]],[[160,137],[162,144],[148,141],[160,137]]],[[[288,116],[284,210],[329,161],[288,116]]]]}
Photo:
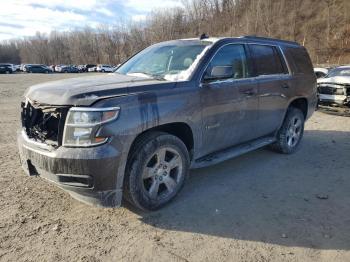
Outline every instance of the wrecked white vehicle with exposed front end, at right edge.
{"type": "Polygon", "coordinates": [[[317,79],[320,104],[350,105],[350,66],[331,69],[328,74],[317,79]]]}

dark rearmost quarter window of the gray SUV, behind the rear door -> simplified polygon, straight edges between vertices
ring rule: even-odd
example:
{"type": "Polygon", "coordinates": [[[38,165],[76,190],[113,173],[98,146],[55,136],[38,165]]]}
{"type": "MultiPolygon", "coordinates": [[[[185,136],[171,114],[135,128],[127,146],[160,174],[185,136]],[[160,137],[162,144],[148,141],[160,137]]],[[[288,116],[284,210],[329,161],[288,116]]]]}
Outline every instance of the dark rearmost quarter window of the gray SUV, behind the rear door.
{"type": "Polygon", "coordinates": [[[313,74],[313,66],[305,48],[288,48],[290,60],[293,61],[293,72],[296,74],[313,74]]]}

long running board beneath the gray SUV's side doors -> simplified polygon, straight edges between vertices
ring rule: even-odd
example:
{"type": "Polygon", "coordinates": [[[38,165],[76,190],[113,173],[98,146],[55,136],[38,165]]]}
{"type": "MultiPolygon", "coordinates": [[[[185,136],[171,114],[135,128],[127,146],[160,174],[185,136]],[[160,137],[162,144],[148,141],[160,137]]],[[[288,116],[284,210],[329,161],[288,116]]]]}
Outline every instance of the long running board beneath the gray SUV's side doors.
{"type": "Polygon", "coordinates": [[[275,137],[264,137],[238,146],[230,147],[222,151],[211,153],[193,161],[191,163],[191,168],[202,168],[206,166],[215,165],[228,159],[243,155],[255,149],[267,146],[269,144],[274,143],[275,141],[275,137]]]}

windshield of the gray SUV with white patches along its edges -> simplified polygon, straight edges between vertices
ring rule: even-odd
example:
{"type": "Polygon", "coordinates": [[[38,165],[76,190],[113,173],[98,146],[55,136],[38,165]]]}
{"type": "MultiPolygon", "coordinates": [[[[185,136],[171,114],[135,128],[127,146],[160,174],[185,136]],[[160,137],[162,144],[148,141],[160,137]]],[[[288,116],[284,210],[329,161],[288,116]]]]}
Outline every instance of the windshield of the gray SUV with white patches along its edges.
{"type": "Polygon", "coordinates": [[[154,45],[132,57],[116,72],[170,81],[187,80],[211,44],[198,40],[154,45]]]}

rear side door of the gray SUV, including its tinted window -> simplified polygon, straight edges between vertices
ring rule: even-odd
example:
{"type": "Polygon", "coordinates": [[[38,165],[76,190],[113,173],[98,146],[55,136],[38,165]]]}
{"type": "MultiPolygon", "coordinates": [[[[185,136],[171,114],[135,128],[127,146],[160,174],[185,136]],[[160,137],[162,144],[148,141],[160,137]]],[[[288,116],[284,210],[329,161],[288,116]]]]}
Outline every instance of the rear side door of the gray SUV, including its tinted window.
{"type": "Polygon", "coordinates": [[[291,75],[278,46],[249,44],[258,81],[259,115],[257,135],[275,132],[292,95],[291,75]]]}

